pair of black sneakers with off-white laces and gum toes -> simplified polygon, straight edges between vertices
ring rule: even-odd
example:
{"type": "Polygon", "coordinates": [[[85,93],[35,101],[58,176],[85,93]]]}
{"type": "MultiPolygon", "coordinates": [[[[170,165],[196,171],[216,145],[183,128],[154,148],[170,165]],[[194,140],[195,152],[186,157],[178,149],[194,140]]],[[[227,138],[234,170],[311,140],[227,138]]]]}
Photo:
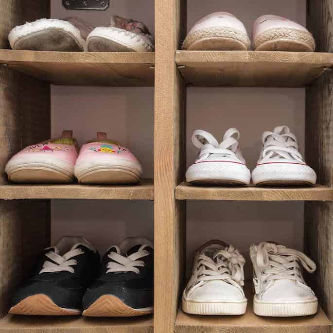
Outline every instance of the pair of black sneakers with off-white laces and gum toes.
{"type": "Polygon", "coordinates": [[[15,293],[15,315],[137,316],[153,312],[153,244],[145,237],[111,246],[102,263],[85,238],[65,236],[40,254],[15,293]]]}

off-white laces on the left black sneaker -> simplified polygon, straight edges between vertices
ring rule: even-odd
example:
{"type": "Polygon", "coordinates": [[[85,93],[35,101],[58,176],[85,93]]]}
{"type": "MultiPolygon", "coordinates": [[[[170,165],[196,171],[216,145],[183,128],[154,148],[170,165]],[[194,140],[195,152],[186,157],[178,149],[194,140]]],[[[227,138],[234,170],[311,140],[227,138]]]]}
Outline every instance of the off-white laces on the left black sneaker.
{"type": "Polygon", "coordinates": [[[59,254],[50,251],[46,253],[46,256],[55,263],[45,261],[43,264],[43,269],[39,272],[39,274],[61,272],[61,271],[74,273],[74,268],[71,266],[76,265],[77,261],[71,258],[76,257],[83,253],[85,252],[81,248],[75,248],[73,250],[70,250],[67,253],[65,253],[63,256],[60,256],[59,254]]]}

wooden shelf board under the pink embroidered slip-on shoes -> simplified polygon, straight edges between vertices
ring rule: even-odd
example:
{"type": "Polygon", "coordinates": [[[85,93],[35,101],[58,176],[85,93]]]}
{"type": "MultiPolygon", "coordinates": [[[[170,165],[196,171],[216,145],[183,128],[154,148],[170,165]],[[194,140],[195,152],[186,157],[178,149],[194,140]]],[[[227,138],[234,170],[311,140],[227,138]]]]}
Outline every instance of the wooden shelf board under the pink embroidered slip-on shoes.
{"type": "Polygon", "coordinates": [[[0,199],[126,199],[154,200],[153,179],[138,185],[7,184],[0,199]]]}

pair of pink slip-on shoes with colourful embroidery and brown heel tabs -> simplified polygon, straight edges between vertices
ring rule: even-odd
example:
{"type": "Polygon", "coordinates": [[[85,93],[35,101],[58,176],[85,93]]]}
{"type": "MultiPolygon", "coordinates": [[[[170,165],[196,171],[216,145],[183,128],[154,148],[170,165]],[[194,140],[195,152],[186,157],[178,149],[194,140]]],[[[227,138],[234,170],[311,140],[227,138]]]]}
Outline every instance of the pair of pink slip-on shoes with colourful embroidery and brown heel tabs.
{"type": "Polygon", "coordinates": [[[8,179],[16,183],[70,183],[74,176],[84,184],[135,184],[142,168],[120,143],[98,132],[97,140],[79,149],[72,131],[60,138],[28,146],[7,163],[8,179]],[[79,154],[78,154],[79,153],[79,154]]]}

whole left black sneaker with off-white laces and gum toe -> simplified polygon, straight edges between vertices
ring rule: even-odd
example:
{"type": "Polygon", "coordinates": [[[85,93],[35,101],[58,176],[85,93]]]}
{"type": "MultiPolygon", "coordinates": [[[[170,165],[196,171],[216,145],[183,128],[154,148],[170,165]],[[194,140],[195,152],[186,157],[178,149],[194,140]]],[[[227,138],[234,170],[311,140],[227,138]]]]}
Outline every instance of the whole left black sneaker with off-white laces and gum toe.
{"type": "Polygon", "coordinates": [[[46,248],[35,275],[13,297],[16,315],[80,315],[82,298],[96,278],[100,255],[83,237],[67,236],[46,248]]]}

